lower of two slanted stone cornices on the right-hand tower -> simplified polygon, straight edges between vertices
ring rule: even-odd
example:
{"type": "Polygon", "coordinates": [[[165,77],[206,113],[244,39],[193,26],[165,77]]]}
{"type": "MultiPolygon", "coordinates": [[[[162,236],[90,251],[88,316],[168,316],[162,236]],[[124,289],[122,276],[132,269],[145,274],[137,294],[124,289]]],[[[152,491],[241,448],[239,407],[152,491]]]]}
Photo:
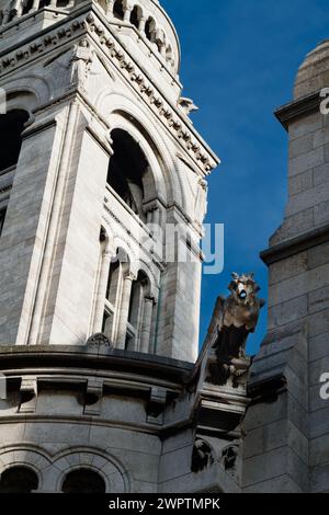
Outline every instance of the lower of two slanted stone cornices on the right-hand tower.
{"type": "Polygon", "coordinates": [[[329,225],[308,231],[297,238],[293,238],[271,247],[261,252],[260,256],[269,266],[277,261],[304,252],[313,247],[320,245],[329,241],[329,225]]]}

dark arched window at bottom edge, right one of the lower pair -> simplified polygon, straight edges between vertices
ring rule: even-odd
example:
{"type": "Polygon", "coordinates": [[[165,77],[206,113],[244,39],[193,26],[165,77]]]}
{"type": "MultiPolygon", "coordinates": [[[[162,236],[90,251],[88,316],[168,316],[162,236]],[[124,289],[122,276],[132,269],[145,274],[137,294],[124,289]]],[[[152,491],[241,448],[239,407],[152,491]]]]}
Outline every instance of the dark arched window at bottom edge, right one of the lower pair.
{"type": "Polygon", "coordinates": [[[78,469],[69,472],[63,483],[63,493],[105,493],[103,478],[93,470],[78,469]]]}

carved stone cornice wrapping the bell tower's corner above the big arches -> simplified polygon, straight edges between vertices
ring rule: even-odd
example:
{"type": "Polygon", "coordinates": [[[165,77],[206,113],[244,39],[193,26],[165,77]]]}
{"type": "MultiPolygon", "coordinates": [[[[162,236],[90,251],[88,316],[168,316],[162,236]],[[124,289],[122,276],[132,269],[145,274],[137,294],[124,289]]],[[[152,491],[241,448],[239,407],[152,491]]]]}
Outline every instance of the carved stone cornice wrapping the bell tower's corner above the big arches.
{"type": "Polygon", "coordinates": [[[161,121],[170,134],[178,140],[181,147],[189,153],[198,168],[208,174],[216,168],[219,159],[209,149],[190,121],[183,119],[179,107],[163,99],[152,81],[145,72],[137,68],[136,62],[124,49],[115,34],[113,34],[103,21],[99,19],[99,12],[89,7],[83,15],[65,20],[44,30],[37,38],[27,38],[20,48],[7,50],[5,56],[0,54],[0,76],[11,72],[16,67],[26,64],[58,47],[63,43],[76,39],[78,36],[89,33],[104,54],[111,58],[117,71],[143,98],[154,114],[161,121]]]}

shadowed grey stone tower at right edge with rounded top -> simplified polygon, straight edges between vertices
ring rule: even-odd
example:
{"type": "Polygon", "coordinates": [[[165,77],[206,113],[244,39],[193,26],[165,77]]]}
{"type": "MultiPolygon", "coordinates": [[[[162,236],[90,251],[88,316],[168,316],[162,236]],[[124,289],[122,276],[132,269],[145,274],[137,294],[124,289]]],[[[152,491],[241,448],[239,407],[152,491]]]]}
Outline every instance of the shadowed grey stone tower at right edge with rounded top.
{"type": "Polygon", "coordinates": [[[269,266],[269,330],[251,368],[243,424],[245,492],[328,492],[329,43],[298,70],[294,100],[276,111],[288,133],[288,202],[262,253],[269,266]]]}

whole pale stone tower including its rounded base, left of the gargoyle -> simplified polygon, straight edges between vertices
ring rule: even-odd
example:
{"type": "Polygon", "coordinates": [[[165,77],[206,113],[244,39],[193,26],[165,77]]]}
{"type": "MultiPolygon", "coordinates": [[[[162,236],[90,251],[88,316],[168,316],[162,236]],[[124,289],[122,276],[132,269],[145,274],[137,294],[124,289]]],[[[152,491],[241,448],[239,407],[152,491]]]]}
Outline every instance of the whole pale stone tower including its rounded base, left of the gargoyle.
{"type": "Polygon", "coordinates": [[[246,381],[196,362],[218,160],[174,27],[156,0],[0,12],[0,491],[239,491],[246,381]]]}

